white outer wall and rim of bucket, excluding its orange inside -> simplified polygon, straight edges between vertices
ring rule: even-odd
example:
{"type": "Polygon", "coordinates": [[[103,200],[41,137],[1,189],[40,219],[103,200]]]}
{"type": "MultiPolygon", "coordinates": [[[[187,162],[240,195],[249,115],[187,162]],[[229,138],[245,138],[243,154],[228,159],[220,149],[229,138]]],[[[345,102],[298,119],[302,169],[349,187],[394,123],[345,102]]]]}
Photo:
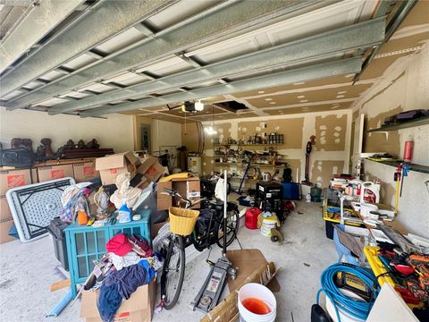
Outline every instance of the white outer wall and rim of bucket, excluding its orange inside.
{"type": "Polygon", "coordinates": [[[275,301],[273,292],[264,285],[257,283],[248,283],[243,285],[240,288],[238,301],[240,322],[273,322],[275,320],[277,302],[275,301]],[[261,315],[249,311],[242,304],[242,301],[248,298],[255,298],[257,300],[264,301],[271,309],[271,312],[261,315]]]}

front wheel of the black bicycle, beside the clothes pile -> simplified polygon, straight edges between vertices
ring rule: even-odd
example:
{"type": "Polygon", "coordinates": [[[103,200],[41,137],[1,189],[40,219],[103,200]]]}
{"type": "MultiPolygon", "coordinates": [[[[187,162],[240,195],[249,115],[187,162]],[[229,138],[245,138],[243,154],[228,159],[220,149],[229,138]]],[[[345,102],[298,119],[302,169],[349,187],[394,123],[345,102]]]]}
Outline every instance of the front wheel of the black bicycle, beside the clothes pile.
{"type": "Polygon", "coordinates": [[[179,300],[185,275],[185,248],[183,237],[175,235],[169,242],[161,276],[161,296],[164,308],[172,309],[179,300]]]}

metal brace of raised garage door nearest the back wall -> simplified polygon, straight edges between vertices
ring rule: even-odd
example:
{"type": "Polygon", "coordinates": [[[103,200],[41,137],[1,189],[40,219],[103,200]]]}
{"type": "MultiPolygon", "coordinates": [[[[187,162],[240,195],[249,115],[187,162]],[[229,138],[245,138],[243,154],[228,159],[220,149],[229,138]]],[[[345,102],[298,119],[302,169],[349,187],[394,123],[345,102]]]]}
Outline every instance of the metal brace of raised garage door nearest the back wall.
{"type": "Polygon", "coordinates": [[[338,61],[297,68],[287,72],[276,72],[265,76],[250,78],[247,80],[232,81],[228,85],[215,85],[203,89],[190,90],[188,93],[174,93],[163,97],[146,98],[132,103],[117,106],[100,107],[88,112],[82,112],[81,116],[94,116],[125,112],[137,108],[172,104],[191,99],[212,97],[216,95],[231,94],[240,91],[265,89],[273,86],[286,85],[299,81],[317,80],[325,77],[357,73],[361,68],[361,57],[341,59],[338,61]]]}

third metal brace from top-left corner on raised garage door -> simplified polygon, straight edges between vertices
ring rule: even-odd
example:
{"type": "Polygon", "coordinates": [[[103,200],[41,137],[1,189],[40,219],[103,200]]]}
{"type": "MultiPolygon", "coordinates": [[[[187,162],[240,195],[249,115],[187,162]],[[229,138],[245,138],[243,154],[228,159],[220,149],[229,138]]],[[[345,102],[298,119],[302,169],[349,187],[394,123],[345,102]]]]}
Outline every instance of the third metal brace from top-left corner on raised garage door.
{"type": "MultiPolygon", "coordinates": [[[[198,46],[222,36],[240,32],[240,30],[247,30],[278,17],[299,15],[305,10],[312,10],[335,2],[337,1],[306,0],[290,3],[275,0],[265,1],[264,5],[258,1],[231,1],[219,4],[157,32],[153,37],[143,39],[139,44],[109,55],[103,61],[90,64],[69,76],[55,80],[49,86],[40,87],[28,95],[15,98],[6,106],[9,109],[29,106],[92,81],[136,68],[142,63],[154,63],[169,55],[180,53],[188,47],[198,46]],[[159,39],[163,39],[163,41],[159,39]]],[[[152,3],[152,1],[148,1],[148,3],[152,3]]]]}

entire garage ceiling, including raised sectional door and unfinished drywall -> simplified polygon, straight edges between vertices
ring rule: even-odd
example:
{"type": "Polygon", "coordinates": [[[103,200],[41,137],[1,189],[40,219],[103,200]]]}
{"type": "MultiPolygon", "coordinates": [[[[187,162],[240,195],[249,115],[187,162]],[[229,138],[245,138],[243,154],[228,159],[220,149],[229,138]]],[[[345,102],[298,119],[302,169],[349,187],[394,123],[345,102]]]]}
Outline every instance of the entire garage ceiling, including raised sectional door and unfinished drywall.
{"type": "Polygon", "coordinates": [[[349,108],[428,41],[428,17],[412,0],[3,1],[1,106],[173,122],[349,108]],[[166,107],[195,99],[205,111],[166,107]]]}

